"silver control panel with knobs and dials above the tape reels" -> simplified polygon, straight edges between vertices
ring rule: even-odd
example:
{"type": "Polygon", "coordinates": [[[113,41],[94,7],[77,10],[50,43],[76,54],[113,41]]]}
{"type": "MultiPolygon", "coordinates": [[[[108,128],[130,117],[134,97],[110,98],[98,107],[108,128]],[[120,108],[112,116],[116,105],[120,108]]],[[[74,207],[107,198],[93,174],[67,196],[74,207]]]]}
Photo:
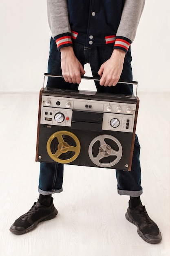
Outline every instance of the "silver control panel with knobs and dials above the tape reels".
{"type": "MultiPolygon", "coordinates": [[[[75,110],[81,111],[84,122],[88,112],[103,113],[102,130],[133,132],[135,104],[66,97],[42,97],[41,124],[71,127],[75,110]]],[[[94,123],[94,120],[88,122],[94,123]]]]}

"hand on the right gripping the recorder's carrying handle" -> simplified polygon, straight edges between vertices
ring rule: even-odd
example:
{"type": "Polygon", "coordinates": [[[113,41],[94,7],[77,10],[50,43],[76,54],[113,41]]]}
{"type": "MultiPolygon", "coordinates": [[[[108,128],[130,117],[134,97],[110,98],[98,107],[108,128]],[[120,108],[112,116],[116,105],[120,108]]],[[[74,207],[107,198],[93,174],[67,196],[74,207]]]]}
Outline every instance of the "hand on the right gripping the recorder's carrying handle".
{"type": "Polygon", "coordinates": [[[114,49],[112,56],[102,64],[98,74],[101,77],[100,85],[115,86],[119,81],[123,70],[126,53],[120,49],[114,49]]]}

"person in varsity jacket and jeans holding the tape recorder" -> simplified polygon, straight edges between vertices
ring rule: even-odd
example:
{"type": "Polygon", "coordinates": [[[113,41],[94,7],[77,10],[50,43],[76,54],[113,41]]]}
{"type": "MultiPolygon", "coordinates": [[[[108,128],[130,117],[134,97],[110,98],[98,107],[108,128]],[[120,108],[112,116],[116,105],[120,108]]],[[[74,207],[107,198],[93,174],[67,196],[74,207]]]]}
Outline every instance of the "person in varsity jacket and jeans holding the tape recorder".
{"type": "MultiPolygon", "coordinates": [[[[47,0],[52,31],[48,72],[64,79],[49,77],[47,87],[77,90],[84,65],[90,63],[98,92],[132,94],[132,86],[117,84],[132,80],[130,44],[135,38],[145,0],[47,0]]],[[[161,233],[141,204],[140,146],[137,135],[131,172],[116,170],[120,195],[129,195],[126,219],[137,225],[138,234],[148,243],[159,243],[161,233]]],[[[41,163],[39,199],[10,228],[24,234],[42,220],[57,215],[52,193],[62,191],[63,164],[41,163]]]]}

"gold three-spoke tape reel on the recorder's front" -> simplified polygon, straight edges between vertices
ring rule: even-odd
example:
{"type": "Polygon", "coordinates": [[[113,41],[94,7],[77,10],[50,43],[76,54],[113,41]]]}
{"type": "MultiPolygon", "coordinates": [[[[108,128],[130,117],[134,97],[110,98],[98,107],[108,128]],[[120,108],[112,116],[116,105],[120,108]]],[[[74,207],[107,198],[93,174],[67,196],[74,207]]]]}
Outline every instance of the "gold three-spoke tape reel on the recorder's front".
{"type": "Polygon", "coordinates": [[[46,150],[55,162],[68,164],[80,153],[80,142],[77,136],[69,131],[58,131],[49,137],[46,150]]]}

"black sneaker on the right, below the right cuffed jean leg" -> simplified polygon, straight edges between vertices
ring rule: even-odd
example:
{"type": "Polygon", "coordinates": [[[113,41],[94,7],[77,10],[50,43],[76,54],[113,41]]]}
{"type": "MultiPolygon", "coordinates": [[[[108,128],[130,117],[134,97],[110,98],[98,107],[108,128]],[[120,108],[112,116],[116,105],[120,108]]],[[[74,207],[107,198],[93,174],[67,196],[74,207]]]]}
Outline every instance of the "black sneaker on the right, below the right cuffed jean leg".
{"type": "Polygon", "coordinates": [[[147,243],[156,244],[161,242],[161,233],[153,220],[151,220],[146,212],[145,206],[141,203],[128,210],[125,214],[126,219],[137,226],[137,233],[147,243]]]}

